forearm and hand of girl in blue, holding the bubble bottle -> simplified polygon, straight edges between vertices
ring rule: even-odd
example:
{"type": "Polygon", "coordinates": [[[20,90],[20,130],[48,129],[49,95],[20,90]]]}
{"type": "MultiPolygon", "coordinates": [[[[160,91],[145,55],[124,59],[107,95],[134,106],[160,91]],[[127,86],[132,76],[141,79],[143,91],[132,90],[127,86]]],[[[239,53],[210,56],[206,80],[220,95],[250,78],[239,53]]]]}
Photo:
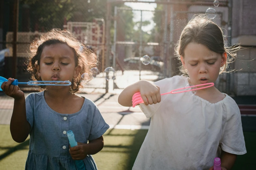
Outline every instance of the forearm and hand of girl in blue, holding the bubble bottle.
{"type": "Polygon", "coordinates": [[[87,155],[94,155],[104,146],[103,136],[89,141],[88,144],[77,142],[77,146],[70,147],[69,153],[73,160],[82,160],[87,155]]]}

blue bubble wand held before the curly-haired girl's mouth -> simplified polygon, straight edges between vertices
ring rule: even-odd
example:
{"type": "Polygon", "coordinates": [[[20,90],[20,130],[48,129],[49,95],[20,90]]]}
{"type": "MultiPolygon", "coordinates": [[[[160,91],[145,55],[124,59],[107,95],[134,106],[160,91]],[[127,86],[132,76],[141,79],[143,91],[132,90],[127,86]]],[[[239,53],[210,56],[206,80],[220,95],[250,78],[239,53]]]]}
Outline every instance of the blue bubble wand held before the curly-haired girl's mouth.
{"type": "MultiPolygon", "coordinates": [[[[3,84],[3,82],[8,81],[8,79],[0,76],[0,86],[3,84]]],[[[27,84],[31,86],[70,86],[70,81],[28,81],[28,82],[18,82],[17,79],[14,79],[14,81],[11,83],[12,85],[18,86],[18,84],[27,84]]],[[[3,91],[0,88],[0,91],[3,91]]]]}

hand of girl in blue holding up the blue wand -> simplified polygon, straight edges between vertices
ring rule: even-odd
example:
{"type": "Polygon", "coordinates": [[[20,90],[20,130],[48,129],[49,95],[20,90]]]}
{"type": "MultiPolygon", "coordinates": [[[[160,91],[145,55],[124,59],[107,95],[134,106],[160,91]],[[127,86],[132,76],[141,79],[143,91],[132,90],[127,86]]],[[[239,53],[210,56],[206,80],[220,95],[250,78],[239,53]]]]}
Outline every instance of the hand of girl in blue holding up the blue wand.
{"type": "Polygon", "coordinates": [[[18,86],[11,85],[13,81],[13,78],[9,78],[8,81],[3,82],[1,89],[5,92],[6,95],[19,100],[24,97],[24,92],[22,92],[18,86]]]}

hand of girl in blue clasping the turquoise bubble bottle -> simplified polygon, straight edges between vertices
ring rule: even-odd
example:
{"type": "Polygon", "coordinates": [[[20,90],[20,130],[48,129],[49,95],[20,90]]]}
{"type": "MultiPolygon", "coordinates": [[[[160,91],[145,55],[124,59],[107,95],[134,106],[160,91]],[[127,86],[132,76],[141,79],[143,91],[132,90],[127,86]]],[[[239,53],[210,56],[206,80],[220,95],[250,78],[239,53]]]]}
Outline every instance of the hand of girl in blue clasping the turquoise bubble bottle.
{"type": "Polygon", "coordinates": [[[80,142],[77,142],[77,146],[75,147],[70,147],[69,145],[69,153],[73,160],[82,160],[88,155],[86,145],[80,142]]]}

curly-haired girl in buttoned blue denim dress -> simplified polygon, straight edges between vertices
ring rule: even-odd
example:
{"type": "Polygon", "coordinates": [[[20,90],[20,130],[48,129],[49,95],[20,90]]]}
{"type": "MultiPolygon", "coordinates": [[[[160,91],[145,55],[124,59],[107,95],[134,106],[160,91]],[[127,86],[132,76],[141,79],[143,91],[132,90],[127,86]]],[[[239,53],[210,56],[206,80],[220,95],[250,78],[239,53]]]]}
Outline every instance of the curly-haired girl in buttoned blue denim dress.
{"type": "Polygon", "coordinates": [[[28,71],[33,80],[69,80],[72,84],[40,86],[41,92],[26,99],[18,86],[11,85],[14,79],[2,84],[2,90],[14,98],[10,122],[13,140],[21,143],[30,135],[25,169],[76,169],[74,160],[83,160],[86,170],[97,169],[91,155],[103,148],[102,135],[109,125],[94,102],[75,94],[82,87],[81,75],[90,75],[97,64],[95,54],[70,32],[59,30],[42,35],[31,44],[30,51],[28,71]],[[78,144],[70,149],[69,130],[78,144]]]}

